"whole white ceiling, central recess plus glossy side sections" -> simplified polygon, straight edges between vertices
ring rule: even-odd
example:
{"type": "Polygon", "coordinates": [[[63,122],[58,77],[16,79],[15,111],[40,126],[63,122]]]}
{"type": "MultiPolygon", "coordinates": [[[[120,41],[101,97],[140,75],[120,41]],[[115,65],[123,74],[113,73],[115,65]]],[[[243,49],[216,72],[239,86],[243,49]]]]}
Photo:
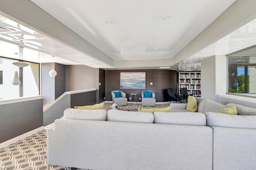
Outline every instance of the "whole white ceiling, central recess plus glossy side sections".
{"type": "MultiPolygon", "coordinates": [[[[114,64],[111,62],[105,62],[105,58],[110,57],[113,62],[138,61],[134,63],[136,65],[134,67],[133,65],[119,67],[125,69],[152,68],[153,65],[155,68],[162,69],[198,71],[200,61],[206,57],[226,55],[256,44],[256,21],[254,20],[230,34],[227,33],[227,36],[219,38],[220,40],[212,45],[196,51],[175,65],[157,64],[162,59],[175,57],[185,49],[186,45],[236,0],[51,0],[50,5],[49,1],[30,1],[92,44],[96,47],[95,49],[102,51],[105,57],[98,57],[100,53],[95,55],[85,53],[43,32],[32,31],[18,24],[18,21],[6,19],[6,16],[0,17],[0,25],[10,28],[12,32],[0,31],[0,40],[35,49],[46,53],[47,56],[54,55],[57,58],[56,62],[59,58],[66,65],[84,64],[94,68],[117,68],[113,67],[114,64]],[[166,16],[170,18],[164,20],[166,16]],[[111,24],[107,24],[108,22],[111,24]],[[143,64],[141,61],[144,61],[143,64]],[[156,62],[145,66],[146,61],[156,62]]],[[[33,7],[30,5],[24,4],[27,10],[33,7]]],[[[38,16],[39,13],[38,11],[38,16]]],[[[36,17],[37,13],[34,15],[36,17]]],[[[37,18],[39,21],[41,19],[43,23],[43,18],[37,18]]],[[[46,26],[48,29],[53,26],[50,22],[49,20],[49,25],[46,26]]],[[[63,34],[63,36],[66,35],[63,34]]],[[[42,59],[41,62],[51,62],[52,58],[48,58],[49,60],[42,59]]]]}

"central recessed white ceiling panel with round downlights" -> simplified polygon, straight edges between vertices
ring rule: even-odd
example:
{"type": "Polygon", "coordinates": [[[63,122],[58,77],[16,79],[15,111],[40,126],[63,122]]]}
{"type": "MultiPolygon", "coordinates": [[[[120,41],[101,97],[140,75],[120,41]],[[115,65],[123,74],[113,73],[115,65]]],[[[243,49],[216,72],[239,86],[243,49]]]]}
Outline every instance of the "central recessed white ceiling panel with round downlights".
{"type": "Polygon", "coordinates": [[[31,1],[114,60],[174,57],[235,2],[51,0],[49,5],[31,1]]]}

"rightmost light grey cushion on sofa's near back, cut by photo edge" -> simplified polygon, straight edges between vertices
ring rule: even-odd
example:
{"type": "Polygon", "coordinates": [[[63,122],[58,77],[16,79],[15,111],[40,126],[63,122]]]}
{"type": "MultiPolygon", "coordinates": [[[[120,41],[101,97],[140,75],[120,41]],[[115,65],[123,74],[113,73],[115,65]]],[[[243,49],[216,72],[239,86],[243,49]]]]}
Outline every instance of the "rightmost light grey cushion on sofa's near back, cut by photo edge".
{"type": "Polygon", "coordinates": [[[230,127],[256,129],[256,116],[228,115],[206,112],[206,122],[209,127],[230,127]]]}

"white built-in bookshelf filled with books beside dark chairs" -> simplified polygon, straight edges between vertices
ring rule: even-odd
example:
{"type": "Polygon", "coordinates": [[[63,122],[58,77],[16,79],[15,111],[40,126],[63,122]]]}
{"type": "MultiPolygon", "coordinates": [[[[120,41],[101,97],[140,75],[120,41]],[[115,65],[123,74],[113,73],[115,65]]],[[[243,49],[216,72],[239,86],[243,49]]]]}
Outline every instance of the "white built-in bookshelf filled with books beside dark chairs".
{"type": "Polygon", "coordinates": [[[195,97],[201,97],[201,73],[200,72],[180,72],[178,82],[180,89],[186,87],[188,93],[195,97]]]}

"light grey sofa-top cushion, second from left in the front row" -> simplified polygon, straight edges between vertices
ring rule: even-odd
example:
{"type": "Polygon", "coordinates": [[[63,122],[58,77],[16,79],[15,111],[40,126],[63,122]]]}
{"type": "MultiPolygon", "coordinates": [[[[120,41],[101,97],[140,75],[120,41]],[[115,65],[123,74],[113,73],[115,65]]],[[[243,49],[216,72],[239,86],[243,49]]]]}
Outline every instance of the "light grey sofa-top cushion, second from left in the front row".
{"type": "Polygon", "coordinates": [[[107,113],[108,121],[153,123],[154,115],[150,112],[133,112],[110,109],[107,113]]]}

